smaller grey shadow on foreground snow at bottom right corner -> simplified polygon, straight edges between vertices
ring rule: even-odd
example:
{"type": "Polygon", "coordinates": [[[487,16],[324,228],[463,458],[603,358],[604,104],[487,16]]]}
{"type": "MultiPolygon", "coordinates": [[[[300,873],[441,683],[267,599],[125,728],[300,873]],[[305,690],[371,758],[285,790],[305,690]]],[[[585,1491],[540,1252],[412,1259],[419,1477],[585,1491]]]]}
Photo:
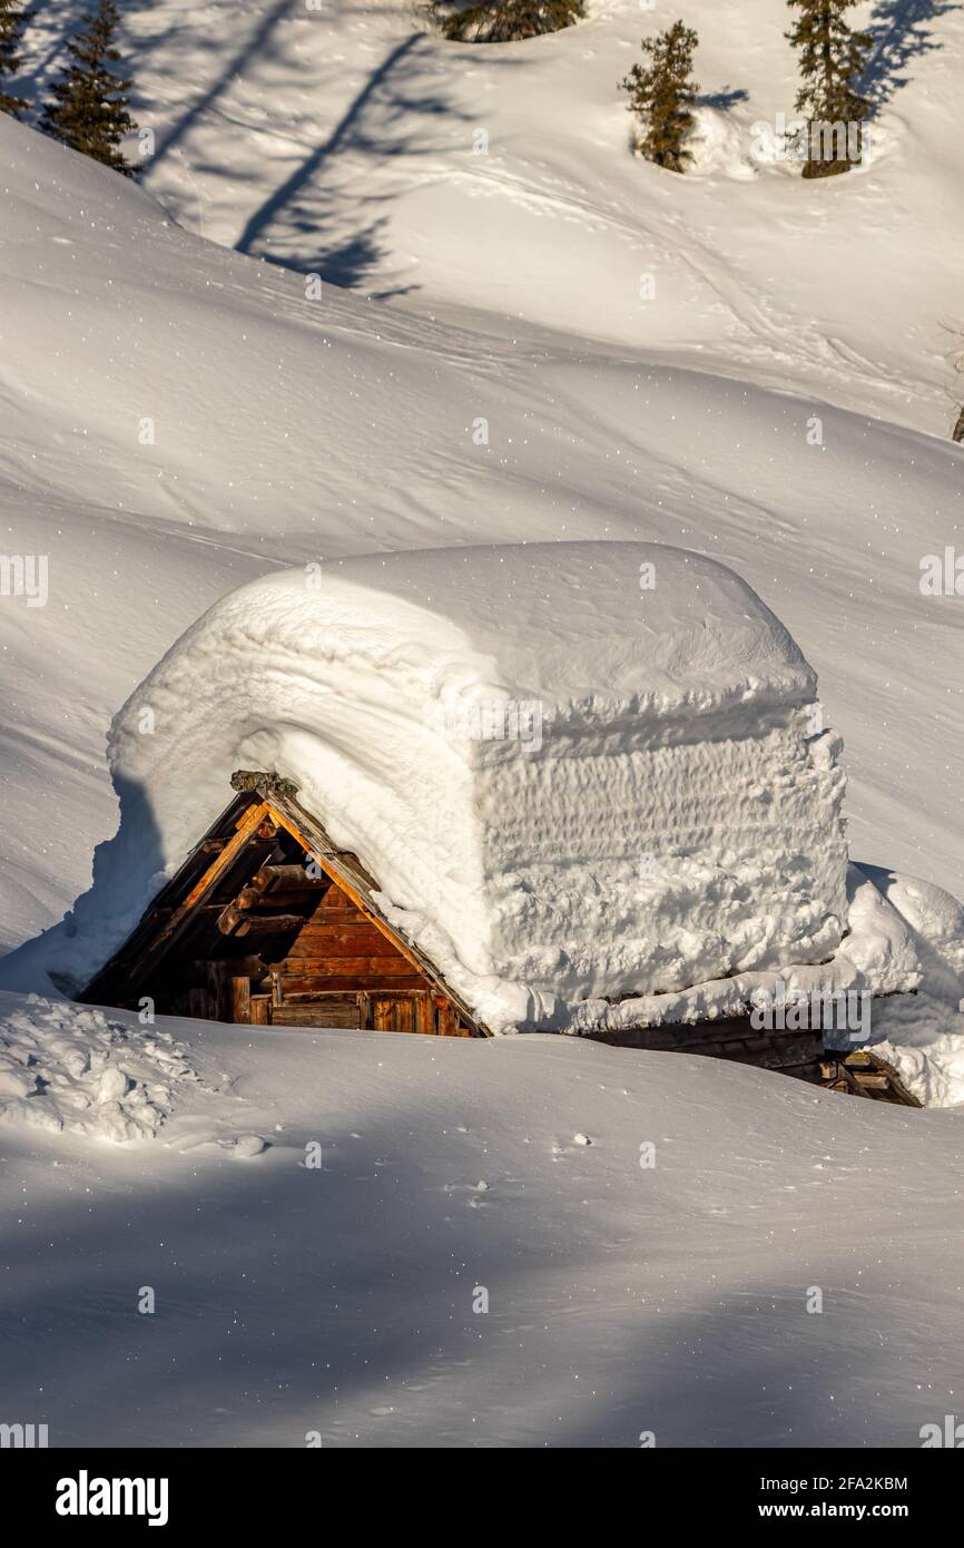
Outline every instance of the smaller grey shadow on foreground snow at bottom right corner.
{"type": "MultiPolygon", "coordinates": [[[[622,1339],[619,1382],[607,1390],[591,1372],[602,1389],[597,1413],[582,1409],[549,1444],[918,1447],[921,1426],[944,1415],[942,1399],[921,1384],[939,1342],[919,1320],[922,1302],[908,1311],[849,1288],[846,1249],[834,1255],[829,1241],[828,1272],[802,1272],[798,1296],[786,1293],[777,1249],[774,1263],[781,1280],[774,1294],[730,1291],[678,1308],[670,1285],[659,1314],[641,1317],[636,1333],[622,1339]],[[822,1313],[806,1311],[805,1289],[814,1280],[825,1289],[822,1313]]],[[[921,1268],[924,1296],[927,1286],[921,1268]]],[[[947,1348],[955,1348],[955,1322],[950,1314],[947,1348]]],[[[949,1389],[962,1364],[956,1353],[947,1359],[949,1389]]]]}

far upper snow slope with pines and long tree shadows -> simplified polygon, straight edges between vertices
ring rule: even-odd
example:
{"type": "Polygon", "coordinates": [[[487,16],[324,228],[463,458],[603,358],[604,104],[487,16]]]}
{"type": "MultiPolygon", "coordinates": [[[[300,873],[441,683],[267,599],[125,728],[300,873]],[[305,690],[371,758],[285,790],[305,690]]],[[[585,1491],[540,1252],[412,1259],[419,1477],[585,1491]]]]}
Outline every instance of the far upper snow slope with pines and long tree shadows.
{"type": "MultiPolygon", "coordinates": [[[[588,0],[576,28],[495,46],[427,36],[412,0],[119,8],[155,138],[147,187],[214,241],[419,313],[477,310],[486,328],[537,324],[953,424],[964,12],[950,0],[854,12],[876,45],[871,166],[817,184],[752,155],[754,125],[794,115],[783,0],[588,0]],[[616,87],[678,14],[699,33],[702,85],[687,180],[630,155],[616,87]]],[[[40,9],[40,88],[82,9],[40,9]]]]}

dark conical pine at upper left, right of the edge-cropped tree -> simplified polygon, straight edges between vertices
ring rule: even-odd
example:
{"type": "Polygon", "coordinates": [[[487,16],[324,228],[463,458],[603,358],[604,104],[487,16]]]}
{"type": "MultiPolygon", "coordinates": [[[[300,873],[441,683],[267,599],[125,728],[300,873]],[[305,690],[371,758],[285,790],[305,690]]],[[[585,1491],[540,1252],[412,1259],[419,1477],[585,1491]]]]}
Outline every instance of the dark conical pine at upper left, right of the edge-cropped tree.
{"type": "Polygon", "coordinates": [[[136,124],[127,111],[124,96],[130,80],[119,79],[110,70],[121,59],[113,40],[116,25],[115,0],[96,0],[87,26],[67,46],[71,63],[53,87],[54,101],[43,108],[40,128],[73,150],[132,178],[135,169],[118,149],[124,135],[136,128],[136,124]]]}

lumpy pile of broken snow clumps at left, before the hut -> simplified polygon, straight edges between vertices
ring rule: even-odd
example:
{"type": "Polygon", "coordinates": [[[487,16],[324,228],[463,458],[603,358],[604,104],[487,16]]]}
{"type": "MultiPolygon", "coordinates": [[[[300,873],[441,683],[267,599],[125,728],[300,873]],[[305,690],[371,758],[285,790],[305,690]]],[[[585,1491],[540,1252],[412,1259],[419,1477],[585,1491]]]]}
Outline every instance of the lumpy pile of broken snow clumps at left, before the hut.
{"type": "Polygon", "coordinates": [[[0,995],[0,1121],[150,1139],[175,1087],[195,1079],[170,1033],[36,994],[0,995]]]}

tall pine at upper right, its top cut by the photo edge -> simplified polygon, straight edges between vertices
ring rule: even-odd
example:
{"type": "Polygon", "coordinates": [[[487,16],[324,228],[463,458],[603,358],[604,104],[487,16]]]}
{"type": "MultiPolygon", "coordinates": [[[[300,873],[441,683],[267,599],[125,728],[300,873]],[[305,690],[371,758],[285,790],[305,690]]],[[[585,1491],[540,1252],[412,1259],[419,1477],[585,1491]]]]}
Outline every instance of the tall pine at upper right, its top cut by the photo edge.
{"type": "Polygon", "coordinates": [[[800,9],[786,37],[800,50],[803,85],[797,94],[797,111],[808,121],[805,178],[834,176],[860,161],[862,124],[870,102],[856,82],[867,65],[873,36],[853,33],[848,26],[846,12],[859,3],[788,0],[791,8],[800,9]]]}

